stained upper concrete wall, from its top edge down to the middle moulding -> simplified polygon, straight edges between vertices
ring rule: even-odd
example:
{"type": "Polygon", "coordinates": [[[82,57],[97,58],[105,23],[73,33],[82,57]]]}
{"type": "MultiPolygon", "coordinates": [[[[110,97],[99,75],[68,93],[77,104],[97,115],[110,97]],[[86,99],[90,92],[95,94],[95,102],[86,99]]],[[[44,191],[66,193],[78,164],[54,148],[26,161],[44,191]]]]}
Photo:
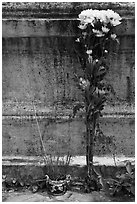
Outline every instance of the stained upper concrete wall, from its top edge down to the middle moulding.
{"type": "MultiPolygon", "coordinates": [[[[74,41],[80,32],[74,11],[78,13],[82,7],[90,6],[100,8],[102,4],[47,3],[40,4],[39,9],[37,4],[30,5],[11,3],[3,6],[3,101],[15,98],[26,101],[28,93],[46,105],[64,98],[80,100],[73,79],[73,71],[78,72],[80,67],[74,53],[74,41]],[[62,15],[57,17],[59,8],[62,15]]],[[[116,29],[120,46],[115,46],[110,54],[108,81],[116,92],[115,100],[134,102],[134,8],[132,4],[125,5],[103,4],[104,8],[118,10],[123,17],[116,29]]]]}

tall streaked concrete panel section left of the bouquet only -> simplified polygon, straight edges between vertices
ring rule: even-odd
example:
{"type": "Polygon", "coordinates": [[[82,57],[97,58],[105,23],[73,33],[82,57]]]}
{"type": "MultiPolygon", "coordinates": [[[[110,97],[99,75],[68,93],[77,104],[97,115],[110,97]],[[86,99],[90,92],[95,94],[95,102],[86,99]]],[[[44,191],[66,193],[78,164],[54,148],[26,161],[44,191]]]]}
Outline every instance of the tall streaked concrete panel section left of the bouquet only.
{"type": "MultiPolygon", "coordinates": [[[[26,37],[3,39],[3,99],[26,101],[29,95],[45,105],[79,100],[73,72],[78,67],[65,48],[72,39],[26,37]]],[[[80,95],[80,94],[79,94],[80,95]]]]}

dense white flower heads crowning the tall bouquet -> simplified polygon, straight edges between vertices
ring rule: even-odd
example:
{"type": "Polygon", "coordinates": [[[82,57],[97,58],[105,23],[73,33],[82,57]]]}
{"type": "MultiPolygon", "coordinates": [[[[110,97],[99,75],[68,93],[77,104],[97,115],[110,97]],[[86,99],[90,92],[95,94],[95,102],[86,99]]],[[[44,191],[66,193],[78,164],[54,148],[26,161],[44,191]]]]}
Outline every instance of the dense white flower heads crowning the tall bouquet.
{"type": "Polygon", "coordinates": [[[79,14],[79,28],[85,30],[88,25],[92,27],[92,32],[97,37],[107,34],[114,26],[119,25],[121,17],[118,13],[108,10],[87,9],[79,14]]]}

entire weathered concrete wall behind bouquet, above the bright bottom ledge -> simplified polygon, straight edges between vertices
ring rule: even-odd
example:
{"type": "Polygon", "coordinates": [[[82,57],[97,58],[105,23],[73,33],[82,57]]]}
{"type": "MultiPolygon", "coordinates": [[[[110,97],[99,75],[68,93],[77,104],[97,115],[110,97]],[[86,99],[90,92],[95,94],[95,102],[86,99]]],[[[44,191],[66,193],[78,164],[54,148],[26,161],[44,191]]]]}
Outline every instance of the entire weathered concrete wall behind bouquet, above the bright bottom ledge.
{"type": "MultiPolygon", "coordinates": [[[[3,155],[40,154],[36,121],[22,122],[24,115],[34,115],[32,101],[35,101],[39,115],[47,115],[50,109],[62,116],[68,109],[72,112],[75,102],[82,101],[73,72],[82,74],[74,52],[74,41],[79,33],[76,18],[83,8],[110,8],[123,17],[122,24],[116,29],[120,45],[112,47],[109,56],[107,80],[114,87],[116,95],[110,97],[108,105],[114,112],[118,104],[123,112],[123,105],[131,107],[134,104],[133,3],[3,3],[2,95],[3,115],[7,116],[3,118],[3,155]],[[13,115],[18,115],[20,122],[14,120],[13,115]],[[9,118],[12,122],[9,122],[9,118]]],[[[119,119],[115,123],[112,119],[109,121],[105,123],[102,120],[102,124],[109,124],[109,134],[116,136],[117,144],[120,138],[118,153],[134,155],[134,119],[122,120],[122,125],[119,119]],[[126,142],[122,145],[124,137],[126,142]]],[[[41,131],[45,131],[43,137],[47,152],[50,152],[51,143],[52,148],[56,149],[51,151],[52,154],[57,153],[58,144],[61,153],[68,146],[73,155],[84,154],[83,120],[50,126],[44,123],[41,121],[40,126],[41,131]]],[[[105,125],[103,129],[109,135],[105,125]]]]}

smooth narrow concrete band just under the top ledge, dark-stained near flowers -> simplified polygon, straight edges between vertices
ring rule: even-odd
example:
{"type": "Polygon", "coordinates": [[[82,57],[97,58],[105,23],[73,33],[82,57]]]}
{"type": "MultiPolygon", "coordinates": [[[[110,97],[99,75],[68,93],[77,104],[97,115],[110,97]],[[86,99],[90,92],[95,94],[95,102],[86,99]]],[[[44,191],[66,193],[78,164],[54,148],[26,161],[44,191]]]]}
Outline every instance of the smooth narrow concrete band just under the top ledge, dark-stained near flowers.
{"type": "MultiPolygon", "coordinates": [[[[76,19],[3,19],[2,37],[78,36],[78,25],[76,19]]],[[[115,32],[119,36],[135,35],[135,19],[123,19],[115,32]]]]}

